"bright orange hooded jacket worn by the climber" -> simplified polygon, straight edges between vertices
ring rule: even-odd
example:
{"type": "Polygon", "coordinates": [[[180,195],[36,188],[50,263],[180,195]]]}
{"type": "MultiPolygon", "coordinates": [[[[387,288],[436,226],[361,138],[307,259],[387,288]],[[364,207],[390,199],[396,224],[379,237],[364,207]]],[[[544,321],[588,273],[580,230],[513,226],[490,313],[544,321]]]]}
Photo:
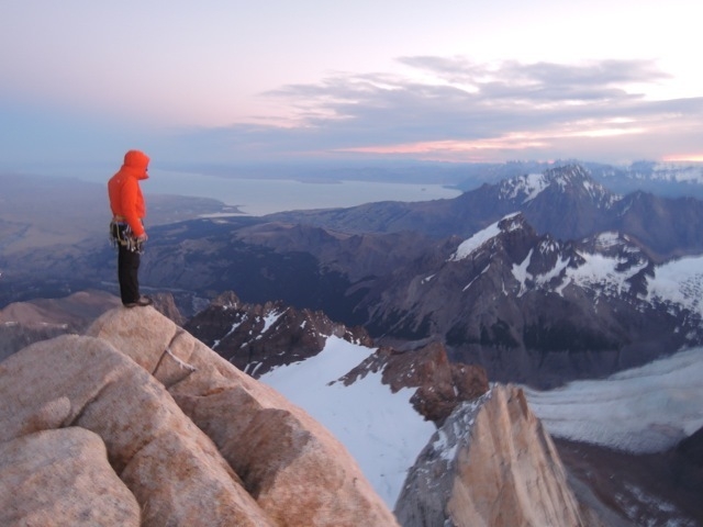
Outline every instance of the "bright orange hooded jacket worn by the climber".
{"type": "Polygon", "coordinates": [[[123,218],[132,228],[134,236],[142,236],[145,231],[142,218],[146,216],[146,205],[140,180],[148,178],[149,158],[140,150],[130,150],[124,155],[124,164],[110,181],[108,195],[112,214],[123,218]]]}

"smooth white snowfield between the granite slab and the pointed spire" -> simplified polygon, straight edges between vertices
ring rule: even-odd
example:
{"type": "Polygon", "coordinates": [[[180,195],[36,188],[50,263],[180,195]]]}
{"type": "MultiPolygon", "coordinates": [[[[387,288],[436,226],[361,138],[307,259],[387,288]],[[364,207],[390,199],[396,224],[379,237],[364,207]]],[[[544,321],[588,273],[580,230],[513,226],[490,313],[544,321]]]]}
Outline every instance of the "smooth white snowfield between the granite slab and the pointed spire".
{"type": "Polygon", "coordinates": [[[345,386],[335,382],[376,348],[328,337],[315,357],[283,366],[259,378],[304,408],[342,441],[376,492],[392,509],[408,469],[436,428],[410,404],[415,390],[391,393],[381,373],[368,373],[345,386]]]}

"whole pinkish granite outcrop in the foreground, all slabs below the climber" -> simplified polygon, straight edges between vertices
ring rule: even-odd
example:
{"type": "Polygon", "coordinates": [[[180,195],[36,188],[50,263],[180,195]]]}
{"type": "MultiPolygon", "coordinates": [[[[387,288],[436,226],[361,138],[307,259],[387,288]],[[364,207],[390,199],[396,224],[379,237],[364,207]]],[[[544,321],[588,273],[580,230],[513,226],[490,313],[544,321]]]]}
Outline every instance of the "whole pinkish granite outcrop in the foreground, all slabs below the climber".
{"type": "Polygon", "coordinates": [[[150,307],[14,354],[0,400],[2,525],[397,525],[326,429],[150,307]],[[37,472],[34,445],[85,462],[37,472]]]}

